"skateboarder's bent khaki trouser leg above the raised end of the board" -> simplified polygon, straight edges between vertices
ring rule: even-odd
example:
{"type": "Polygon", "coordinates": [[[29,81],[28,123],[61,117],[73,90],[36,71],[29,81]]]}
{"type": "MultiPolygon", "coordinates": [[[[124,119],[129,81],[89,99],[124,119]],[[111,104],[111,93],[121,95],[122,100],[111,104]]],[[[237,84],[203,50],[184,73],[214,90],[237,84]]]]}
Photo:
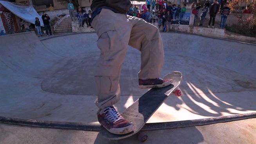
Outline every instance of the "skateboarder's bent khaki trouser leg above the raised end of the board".
{"type": "Polygon", "coordinates": [[[160,77],[164,64],[164,50],[159,29],[142,19],[130,17],[130,20],[134,26],[129,45],[141,51],[139,79],[160,77]]]}

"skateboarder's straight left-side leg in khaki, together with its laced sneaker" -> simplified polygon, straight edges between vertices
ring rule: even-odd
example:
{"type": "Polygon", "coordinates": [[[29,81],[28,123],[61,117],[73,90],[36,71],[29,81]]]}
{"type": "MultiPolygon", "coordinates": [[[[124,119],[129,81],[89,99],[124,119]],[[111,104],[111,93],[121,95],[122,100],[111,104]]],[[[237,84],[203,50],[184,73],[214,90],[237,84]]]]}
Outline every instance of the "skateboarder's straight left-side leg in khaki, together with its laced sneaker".
{"type": "Polygon", "coordinates": [[[113,104],[120,99],[119,76],[124,61],[132,23],[124,14],[102,9],[92,21],[99,36],[97,47],[101,55],[96,65],[95,80],[99,92],[95,103],[99,107],[99,123],[110,133],[125,134],[134,130],[134,125],[126,121],[115,110],[113,104]]]}

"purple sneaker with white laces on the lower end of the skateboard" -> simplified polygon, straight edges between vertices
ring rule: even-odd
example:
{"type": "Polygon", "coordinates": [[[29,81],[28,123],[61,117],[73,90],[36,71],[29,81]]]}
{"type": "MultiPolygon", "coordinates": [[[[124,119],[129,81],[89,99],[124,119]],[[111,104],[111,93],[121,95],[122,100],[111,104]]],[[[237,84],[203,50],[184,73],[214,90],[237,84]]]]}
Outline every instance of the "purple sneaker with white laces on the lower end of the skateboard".
{"type": "Polygon", "coordinates": [[[110,133],[126,134],[134,130],[134,125],[126,121],[113,106],[100,109],[97,112],[99,123],[110,133]]]}

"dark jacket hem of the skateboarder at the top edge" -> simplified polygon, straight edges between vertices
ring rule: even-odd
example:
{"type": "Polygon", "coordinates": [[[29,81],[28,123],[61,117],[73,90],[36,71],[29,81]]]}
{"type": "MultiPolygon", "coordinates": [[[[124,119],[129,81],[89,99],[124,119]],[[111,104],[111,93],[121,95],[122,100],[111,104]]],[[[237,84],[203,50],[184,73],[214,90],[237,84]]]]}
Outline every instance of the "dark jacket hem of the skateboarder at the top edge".
{"type": "Polygon", "coordinates": [[[104,6],[110,7],[115,11],[126,14],[132,4],[130,0],[92,0],[92,12],[104,6]]]}

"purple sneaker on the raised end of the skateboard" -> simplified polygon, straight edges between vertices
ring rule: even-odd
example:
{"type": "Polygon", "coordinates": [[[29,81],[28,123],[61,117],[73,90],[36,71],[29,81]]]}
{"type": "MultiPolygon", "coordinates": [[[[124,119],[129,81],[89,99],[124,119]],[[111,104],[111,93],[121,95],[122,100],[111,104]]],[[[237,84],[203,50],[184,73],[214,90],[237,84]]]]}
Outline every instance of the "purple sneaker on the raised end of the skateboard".
{"type": "Polygon", "coordinates": [[[171,85],[172,79],[139,79],[139,88],[162,88],[171,85]]]}

